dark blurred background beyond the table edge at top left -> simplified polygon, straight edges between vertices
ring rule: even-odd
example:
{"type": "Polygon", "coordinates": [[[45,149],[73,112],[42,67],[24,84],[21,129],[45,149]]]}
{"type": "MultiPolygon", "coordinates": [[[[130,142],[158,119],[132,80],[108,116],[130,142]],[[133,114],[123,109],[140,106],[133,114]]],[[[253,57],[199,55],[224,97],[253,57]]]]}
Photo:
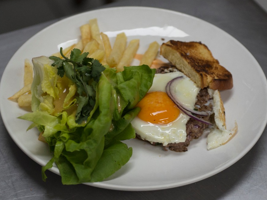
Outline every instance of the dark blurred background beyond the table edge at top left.
{"type": "Polygon", "coordinates": [[[0,0],[0,34],[119,0],[0,0]]]}

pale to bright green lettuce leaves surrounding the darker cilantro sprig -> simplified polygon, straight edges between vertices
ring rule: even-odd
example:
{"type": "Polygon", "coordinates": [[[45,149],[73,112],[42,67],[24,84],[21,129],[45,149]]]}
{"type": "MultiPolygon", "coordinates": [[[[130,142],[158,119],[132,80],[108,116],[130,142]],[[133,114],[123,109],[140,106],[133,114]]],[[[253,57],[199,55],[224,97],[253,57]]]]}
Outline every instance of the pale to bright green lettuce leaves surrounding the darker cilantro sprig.
{"type": "MultiPolygon", "coordinates": [[[[49,59],[43,58],[43,62],[51,64],[49,59]]],[[[47,179],[45,171],[54,162],[62,183],[66,185],[103,181],[125,165],[132,156],[132,148],[121,141],[135,137],[130,122],[140,111],[135,106],[152,86],[155,70],[143,65],[125,67],[124,71],[116,73],[116,69],[106,66],[101,76],[96,77],[99,82],[94,86],[94,108],[87,120],[78,124],[75,112],[62,110],[53,113],[51,98],[58,95],[57,84],[54,84],[57,82],[51,78],[48,84],[47,78],[52,72],[44,72],[40,63],[35,63],[34,68],[36,74],[31,89],[33,112],[19,118],[33,122],[29,129],[37,126],[49,145],[53,157],[42,167],[43,180],[47,179]]],[[[70,85],[63,107],[75,104],[76,96],[76,87],[71,88],[70,85]]]]}

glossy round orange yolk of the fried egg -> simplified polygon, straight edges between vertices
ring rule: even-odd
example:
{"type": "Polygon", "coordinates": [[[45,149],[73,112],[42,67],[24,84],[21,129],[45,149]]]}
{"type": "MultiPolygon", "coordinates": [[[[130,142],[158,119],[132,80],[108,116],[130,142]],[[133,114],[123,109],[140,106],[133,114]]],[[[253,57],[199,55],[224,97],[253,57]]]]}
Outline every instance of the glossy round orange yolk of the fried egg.
{"type": "Polygon", "coordinates": [[[141,110],[138,117],[150,123],[170,123],[180,114],[179,108],[173,103],[170,97],[161,91],[150,92],[137,103],[141,110]]]}

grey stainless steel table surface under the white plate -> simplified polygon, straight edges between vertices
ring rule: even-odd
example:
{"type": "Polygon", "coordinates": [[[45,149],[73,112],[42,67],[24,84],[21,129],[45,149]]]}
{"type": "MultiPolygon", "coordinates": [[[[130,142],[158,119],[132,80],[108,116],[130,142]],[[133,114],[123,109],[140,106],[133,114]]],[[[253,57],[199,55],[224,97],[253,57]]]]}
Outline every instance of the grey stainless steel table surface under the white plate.
{"type": "MultiPolygon", "coordinates": [[[[103,7],[112,6],[166,8],[208,21],[239,40],[267,74],[267,13],[252,0],[126,0],[103,7]]],[[[0,34],[1,76],[12,55],[25,41],[58,20],[0,34]]],[[[49,179],[43,182],[41,166],[16,146],[1,119],[0,199],[267,199],[266,146],[265,129],[242,159],[210,178],[166,190],[113,191],[87,185],[62,185],[60,176],[52,172],[47,172],[49,179]]]]}

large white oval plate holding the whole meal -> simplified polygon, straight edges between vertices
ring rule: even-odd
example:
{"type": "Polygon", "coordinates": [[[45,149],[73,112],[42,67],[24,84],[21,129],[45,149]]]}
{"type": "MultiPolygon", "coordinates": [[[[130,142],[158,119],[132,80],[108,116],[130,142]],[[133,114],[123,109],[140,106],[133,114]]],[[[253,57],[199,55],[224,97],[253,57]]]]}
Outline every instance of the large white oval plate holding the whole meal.
{"type": "MultiPolygon", "coordinates": [[[[133,147],[130,161],[106,181],[88,185],[131,191],[186,185],[221,172],[254,146],[267,121],[267,107],[262,106],[267,102],[267,82],[249,51],[226,32],[198,18],[158,8],[118,7],[81,13],[45,28],[23,44],[8,63],[0,85],[1,114],[10,136],[31,159],[43,166],[51,155],[48,147],[37,140],[38,131],[26,132],[30,123],[17,119],[27,111],[7,98],[23,85],[25,58],[49,56],[58,51],[59,44],[79,39],[79,26],[91,18],[98,19],[103,32],[131,30],[127,31],[127,34],[132,34],[129,39],[140,38],[138,53],[143,53],[154,40],[159,43],[163,39],[202,41],[206,44],[214,57],[233,75],[234,88],[221,94],[227,128],[231,129],[236,120],[239,130],[229,143],[210,151],[206,149],[206,135],[191,142],[189,150],[182,153],[165,152],[159,146],[131,139],[126,141],[128,146],[133,147]],[[168,28],[173,31],[166,33],[168,28]]],[[[51,171],[59,174],[57,167],[51,171]]]]}

